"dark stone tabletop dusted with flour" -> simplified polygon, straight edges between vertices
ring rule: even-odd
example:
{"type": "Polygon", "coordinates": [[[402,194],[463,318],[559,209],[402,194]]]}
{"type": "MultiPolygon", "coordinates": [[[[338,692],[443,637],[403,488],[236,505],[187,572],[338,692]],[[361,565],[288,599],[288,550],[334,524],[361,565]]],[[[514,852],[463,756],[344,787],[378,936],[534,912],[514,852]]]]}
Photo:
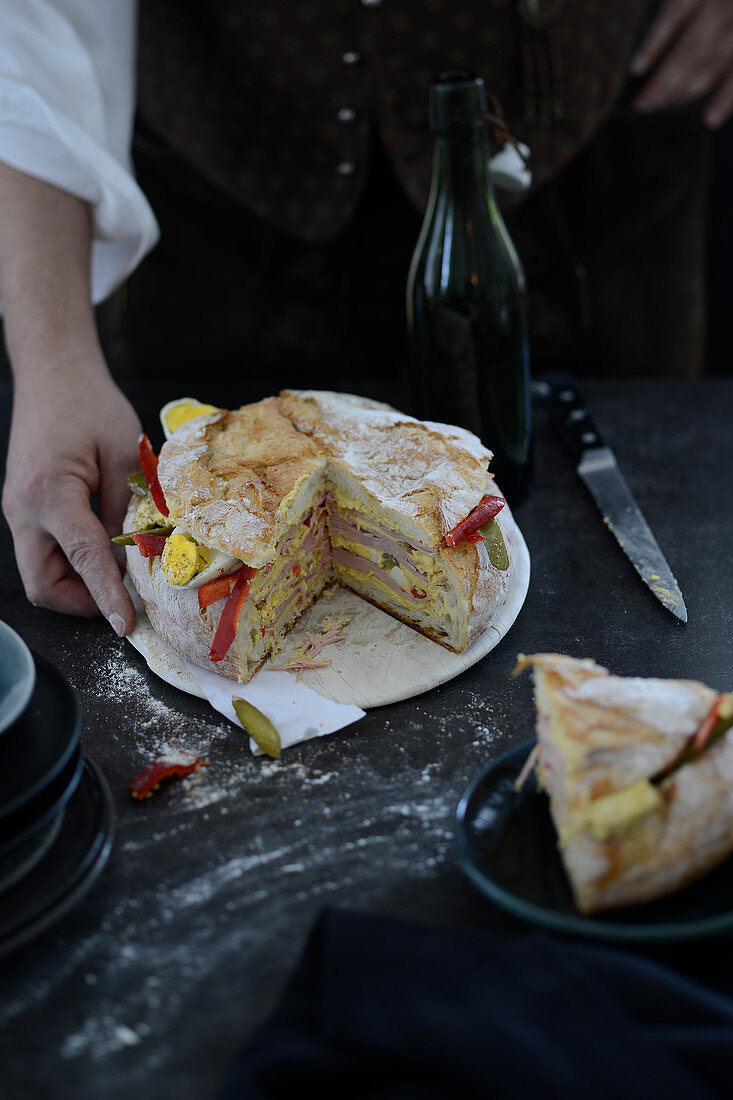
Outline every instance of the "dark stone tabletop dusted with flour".
{"type": "MultiPolygon", "coordinates": [[[[468,780],[533,735],[529,680],[511,675],[517,652],[733,688],[733,381],[589,380],[583,391],[689,623],[637,579],[538,409],[535,486],[516,509],[532,582],[512,630],[456,680],[276,762],[252,757],[234,727],[154,676],[103,620],[30,606],[0,521],[0,616],[76,690],[83,744],[118,815],[91,891],[0,963],[4,1100],[212,1097],[325,905],[458,930],[517,927],[474,891],[452,851],[468,780]],[[128,781],[166,747],[205,750],[210,765],[197,784],[133,802],[128,781]]],[[[160,446],[157,408],[179,395],[142,384],[129,393],[160,446]]],[[[6,387],[3,455],[9,406],[6,387]]]]}

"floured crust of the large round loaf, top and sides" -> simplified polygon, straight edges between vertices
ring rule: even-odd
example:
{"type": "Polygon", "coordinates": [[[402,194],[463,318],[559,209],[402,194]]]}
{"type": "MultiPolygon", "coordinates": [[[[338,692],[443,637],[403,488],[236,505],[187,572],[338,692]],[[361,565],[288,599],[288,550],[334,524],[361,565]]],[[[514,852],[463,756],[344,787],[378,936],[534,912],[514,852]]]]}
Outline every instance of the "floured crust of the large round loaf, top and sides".
{"type": "MultiPolygon", "coordinates": [[[[161,451],[158,477],[180,528],[260,568],[274,560],[277,539],[327,483],[433,550],[491,492],[490,458],[474,436],[459,428],[423,424],[348,394],[287,391],[184,425],[161,451]]],[[[136,506],[133,498],[125,530],[133,529],[136,506]]],[[[483,543],[441,551],[464,620],[457,644],[420,622],[417,610],[409,618],[409,612],[360,594],[461,652],[488,628],[511,584],[515,527],[508,505],[497,522],[510,554],[507,570],[491,564],[483,543]]],[[[160,559],[142,558],[136,548],[129,548],[128,570],[153,628],[174,651],[221,675],[251,679],[256,669],[247,668],[236,646],[216,668],[209,662],[222,603],[200,612],[196,591],[171,585],[160,559]]]]}

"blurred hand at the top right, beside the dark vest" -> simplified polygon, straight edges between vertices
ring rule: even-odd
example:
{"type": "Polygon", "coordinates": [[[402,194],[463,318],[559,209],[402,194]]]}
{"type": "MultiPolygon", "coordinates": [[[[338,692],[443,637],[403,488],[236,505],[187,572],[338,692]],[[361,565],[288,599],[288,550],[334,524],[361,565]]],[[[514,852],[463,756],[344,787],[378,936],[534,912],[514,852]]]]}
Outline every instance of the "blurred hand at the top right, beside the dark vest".
{"type": "Polygon", "coordinates": [[[732,0],[665,0],[630,66],[646,77],[633,106],[658,111],[702,99],[714,130],[733,113],[732,0]]]}

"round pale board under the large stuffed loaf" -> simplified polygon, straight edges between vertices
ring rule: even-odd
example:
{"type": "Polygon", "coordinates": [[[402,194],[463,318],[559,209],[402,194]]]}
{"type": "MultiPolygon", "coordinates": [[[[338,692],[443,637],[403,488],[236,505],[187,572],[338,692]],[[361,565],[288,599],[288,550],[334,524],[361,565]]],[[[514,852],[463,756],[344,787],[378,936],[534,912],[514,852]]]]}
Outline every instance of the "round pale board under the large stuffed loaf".
{"type": "MultiPolygon", "coordinates": [[[[349,619],[342,630],[346,640],[324,651],[324,657],[331,660],[330,667],[304,673],[303,682],[308,688],[335,703],[351,703],[364,708],[384,706],[430,691],[491,652],[516,619],[529,586],[529,551],[518,528],[515,553],[515,570],[503,606],[486,631],[462,653],[451,653],[355,593],[335,585],[291,630],[273,663],[285,663],[289,653],[306,641],[306,631],[315,634],[325,619],[346,618],[349,619]]],[[[138,624],[128,640],[162,680],[204,698],[186,663],[153,630],[127,578],[125,585],[138,613],[138,624]]],[[[258,676],[267,675],[266,668],[264,666],[258,676]]]]}

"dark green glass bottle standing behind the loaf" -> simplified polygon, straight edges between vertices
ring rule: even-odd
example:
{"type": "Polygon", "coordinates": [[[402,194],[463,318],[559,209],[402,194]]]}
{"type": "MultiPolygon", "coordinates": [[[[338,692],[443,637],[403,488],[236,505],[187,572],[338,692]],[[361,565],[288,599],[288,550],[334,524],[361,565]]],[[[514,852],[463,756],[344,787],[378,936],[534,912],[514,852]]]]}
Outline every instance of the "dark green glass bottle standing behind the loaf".
{"type": "Polygon", "coordinates": [[[485,113],[474,73],[430,82],[433,177],[407,279],[412,393],[416,416],[479,436],[517,503],[532,475],[526,290],[494,198],[485,113]]]}

